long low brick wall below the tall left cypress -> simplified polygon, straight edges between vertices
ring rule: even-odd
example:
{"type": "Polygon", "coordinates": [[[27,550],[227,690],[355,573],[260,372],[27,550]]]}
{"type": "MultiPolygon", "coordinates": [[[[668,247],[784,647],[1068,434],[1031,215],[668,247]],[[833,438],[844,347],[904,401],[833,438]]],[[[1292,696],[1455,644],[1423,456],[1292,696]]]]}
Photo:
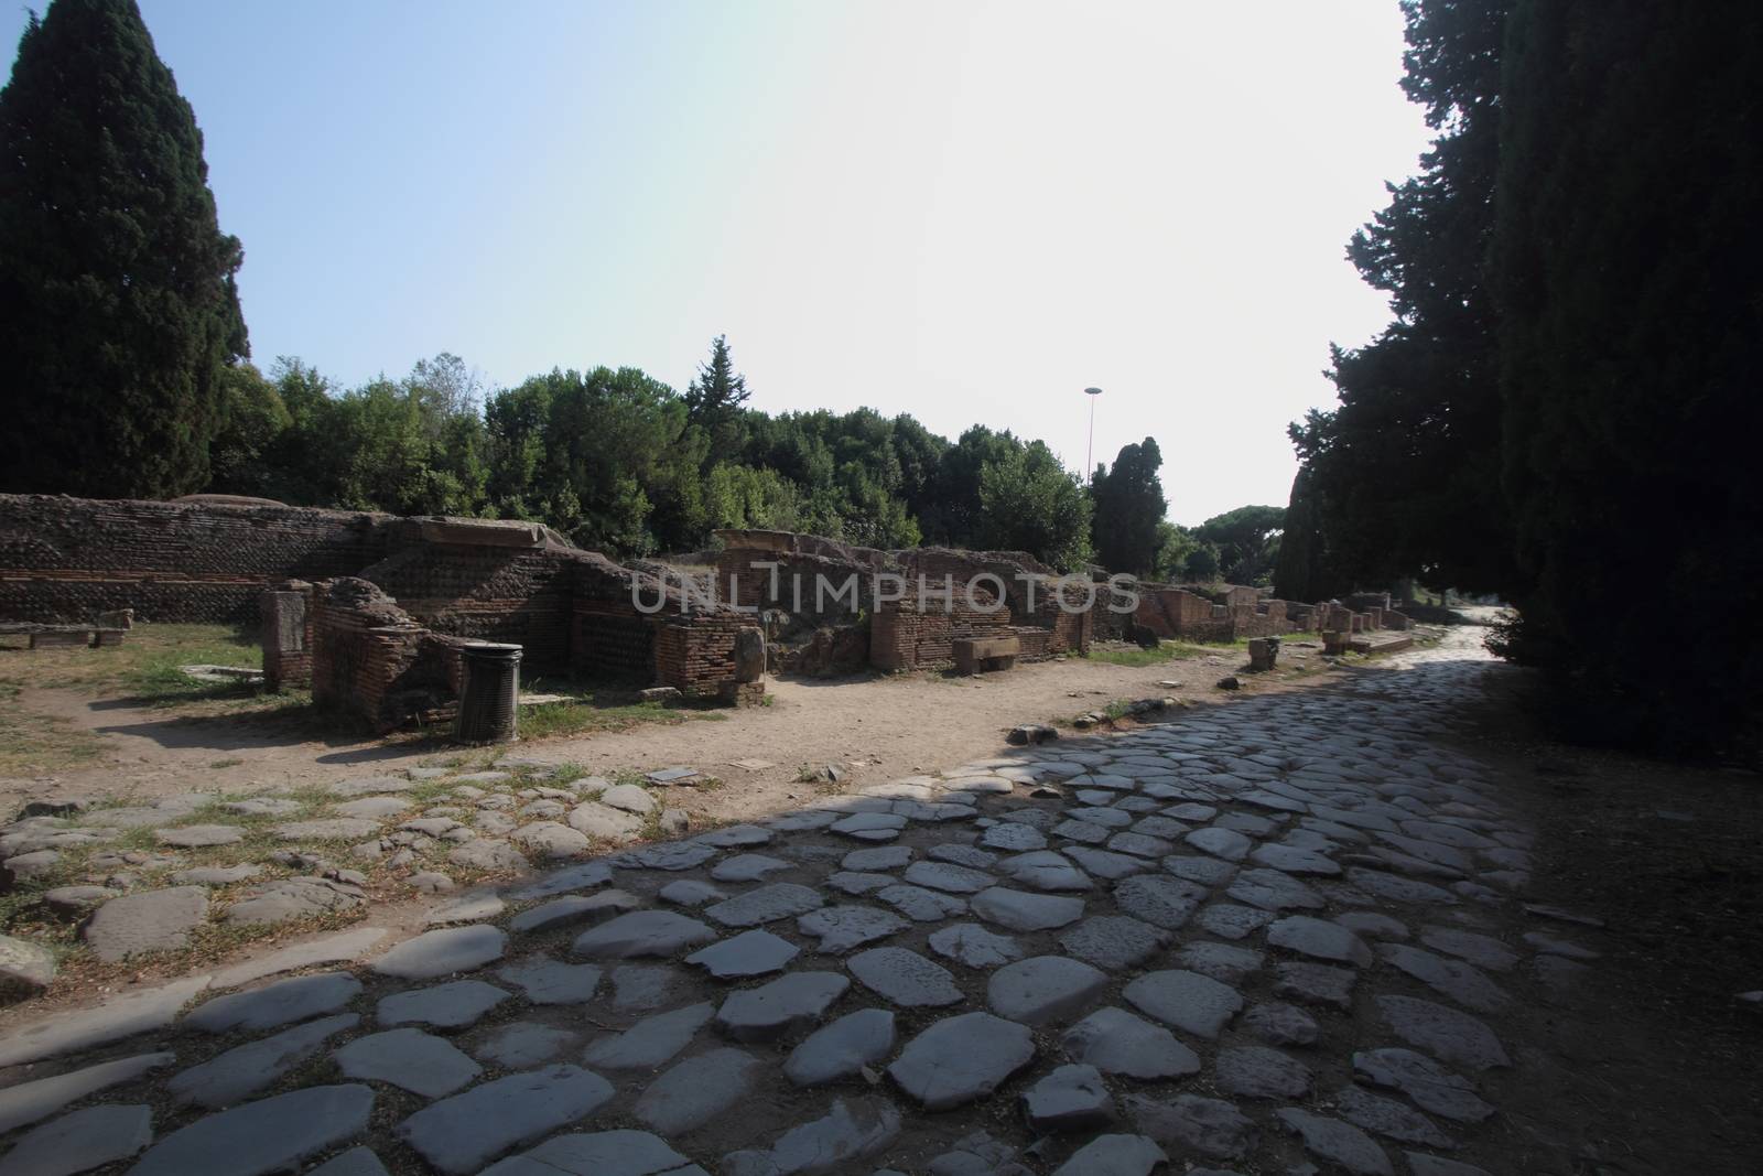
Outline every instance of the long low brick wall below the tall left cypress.
{"type": "Polygon", "coordinates": [[[0,494],[0,619],[250,622],[279,580],[384,559],[388,515],[0,494]]]}

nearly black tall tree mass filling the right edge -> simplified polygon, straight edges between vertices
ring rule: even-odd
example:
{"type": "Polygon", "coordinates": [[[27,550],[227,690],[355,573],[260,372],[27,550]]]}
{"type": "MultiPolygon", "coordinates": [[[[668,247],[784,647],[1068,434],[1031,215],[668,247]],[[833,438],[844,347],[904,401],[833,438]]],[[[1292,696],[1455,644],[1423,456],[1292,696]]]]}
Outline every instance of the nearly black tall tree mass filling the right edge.
{"type": "Polygon", "coordinates": [[[1518,652],[1585,733],[1763,760],[1763,9],[1520,0],[1507,48],[1518,652]]]}

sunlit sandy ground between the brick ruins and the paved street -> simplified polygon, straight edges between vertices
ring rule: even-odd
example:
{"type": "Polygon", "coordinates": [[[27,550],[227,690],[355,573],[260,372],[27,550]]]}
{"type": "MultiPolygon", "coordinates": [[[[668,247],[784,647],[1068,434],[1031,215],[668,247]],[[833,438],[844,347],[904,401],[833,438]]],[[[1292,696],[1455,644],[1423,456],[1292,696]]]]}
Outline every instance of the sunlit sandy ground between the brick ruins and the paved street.
{"type": "MultiPolygon", "coordinates": [[[[1019,723],[1068,721],[1116,698],[1174,696],[1190,705],[1329,681],[1335,670],[1315,645],[1289,644],[1282,670],[1243,675],[1236,693],[1215,682],[1246,665],[1234,649],[1132,668],[1068,659],[1023,665],[973,679],[862,675],[767,679],[772,703],[691,712],[677,725],[645,723],[587,737],[522,741],[497,753],[589,772],[689,765],[725,781],[716,790],[675,788],[668,804],[714,820],[740,820],[790,808],[813,785],[804,767],[837,763],[846,783],[894,779],[996,755],[1019,723]],[[1176,686],[1162,686],[1176,682],[1176,686]],[[770,763],[737,767],[739,760],[770,763]]],[[[166,795],[190,790],[286,788],[310,781],[400,770],[458,755],[443,742],[312,739],[309,726],[243,718],[175,718],[72,689],[25,689],[18,705],[63,718],[104,739],[97,765],[37,779],[0,781],[0,806],[39,797],[166,795]]]]}

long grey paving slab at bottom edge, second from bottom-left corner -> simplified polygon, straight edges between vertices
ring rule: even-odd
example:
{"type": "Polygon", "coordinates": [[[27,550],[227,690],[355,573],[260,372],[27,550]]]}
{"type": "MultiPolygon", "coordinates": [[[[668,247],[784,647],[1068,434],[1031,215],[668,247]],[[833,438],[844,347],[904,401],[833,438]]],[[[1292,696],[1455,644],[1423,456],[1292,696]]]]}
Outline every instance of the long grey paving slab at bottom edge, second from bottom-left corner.
{"type": "Polygon", "coordinates": [[[268,1176],[367,1130],[374,1091],[356,1083],[307,1086],[219,1111],[160,1139],[129,1176],[268,1176]]]}

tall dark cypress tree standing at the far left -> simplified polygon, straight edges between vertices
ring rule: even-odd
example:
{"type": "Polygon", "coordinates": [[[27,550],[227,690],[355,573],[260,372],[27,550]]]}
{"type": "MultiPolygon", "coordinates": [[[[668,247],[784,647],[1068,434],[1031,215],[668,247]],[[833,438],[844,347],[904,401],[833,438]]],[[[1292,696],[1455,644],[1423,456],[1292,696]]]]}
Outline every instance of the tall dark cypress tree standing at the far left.
{"type": "Polygon", "coordinates": [[[55,0],[0,90],[0,487],[208,485],[249,353],[203,136],[134,0],[55,0]]]}

